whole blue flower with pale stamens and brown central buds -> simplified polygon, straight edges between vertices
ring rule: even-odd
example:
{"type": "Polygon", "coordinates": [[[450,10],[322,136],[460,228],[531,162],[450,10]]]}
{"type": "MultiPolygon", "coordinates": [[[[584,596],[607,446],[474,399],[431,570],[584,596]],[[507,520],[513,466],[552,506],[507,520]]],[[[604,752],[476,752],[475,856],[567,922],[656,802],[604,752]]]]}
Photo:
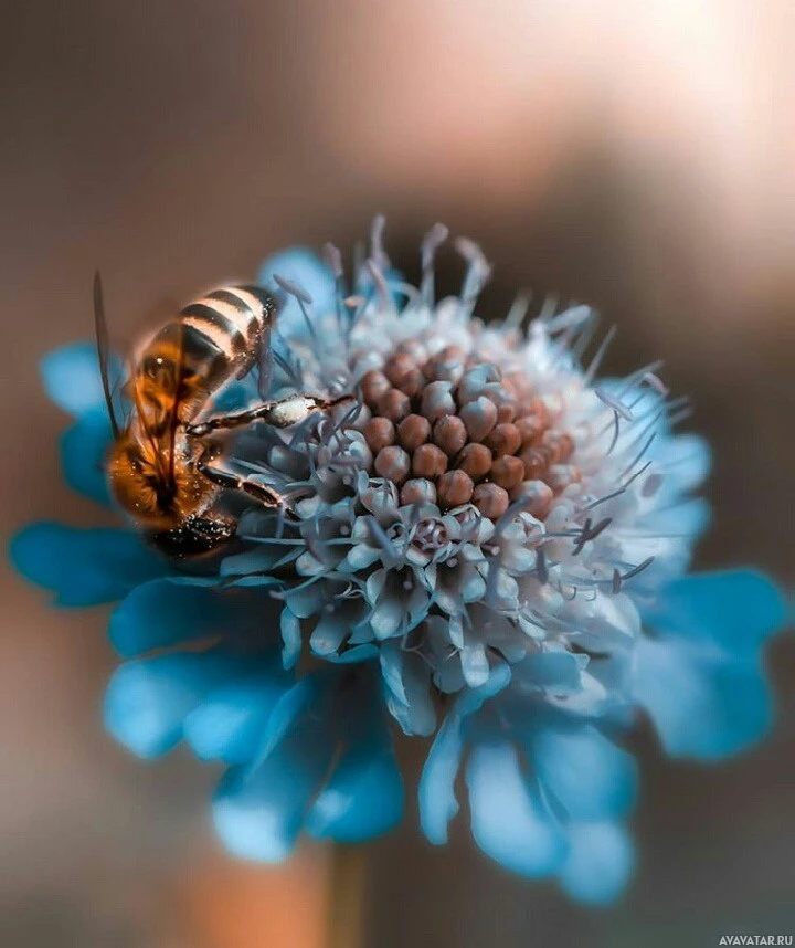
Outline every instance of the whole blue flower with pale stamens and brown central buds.
{"type": "MultiPolygon", "coordinates": [[[[632,868],[636,769],[621,746],[645,712],[666,751],[720,759],[771,720],[765,639],[785,620],[754,571],[688,575],[708,509],[706,442],[675,433],[683,402],[650,365],[597,378],[587,307],[521,301],[474,315],[489,267],[459,240],[458,296],[436,301],[382,245],[346,285],[341,255],[287,251],[261,282],[282,295],[272,392],[333,407],[287,431],[255,425],[231,459],[284,493],[252,504],[212,575],[179,571],[134,533],[38,525],[12,548],[62,604],[123,598],[110,639],[129,659],[108,729],[151,757],[186,740],[229,766],[216,826],[243,856],[279,860],[305,829],[363,840],[402,815],[394,719],[434,736],[421,823],[446,840],[464,755],[473,835],[488,855],[605,902],[632,868]]],[[[76,422],[67,480],[107,501],[109,442],[93,355],[44,361],[76,422]]],[[[227,403],[254,399],[235,382],[227,403]]]]}

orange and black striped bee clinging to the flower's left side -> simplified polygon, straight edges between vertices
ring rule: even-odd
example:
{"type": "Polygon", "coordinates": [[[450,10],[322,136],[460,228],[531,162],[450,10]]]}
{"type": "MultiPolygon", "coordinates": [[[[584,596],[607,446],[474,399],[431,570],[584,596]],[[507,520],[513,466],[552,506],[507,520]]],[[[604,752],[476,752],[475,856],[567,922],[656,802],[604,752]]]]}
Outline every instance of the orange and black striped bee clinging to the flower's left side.
{"type": "Polygon", "coordinates": [[[288,428],[336,403],[304,394],[265,400],[276,314],[276,297],[258,286],[224,286],[186,306],[134,358],[125,386],[131,410],[119,425],[108,376],[102,282],[98,273],[94,277],[97,354],[114,435],[107,456],[110,489],[146,539],[169,557],[198,557],[232,540],[236,519],[222,503],[227,492],[290,514],[274,488],[224,467],[222,444],[214,436],[261,420],[288,428]],[[213,396],[255,367],[263,403],[202,420],[213,396]]]}

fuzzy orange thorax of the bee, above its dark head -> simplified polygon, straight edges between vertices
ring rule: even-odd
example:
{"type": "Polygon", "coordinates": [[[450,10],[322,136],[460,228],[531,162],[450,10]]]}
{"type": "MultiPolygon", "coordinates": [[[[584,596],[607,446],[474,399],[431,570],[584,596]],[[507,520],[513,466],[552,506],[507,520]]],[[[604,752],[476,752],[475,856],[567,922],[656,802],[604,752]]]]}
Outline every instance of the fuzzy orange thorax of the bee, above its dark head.
{"type": "Polygon", "coordinates": [[[107,465],[116,499],[145,530],[179,527],[187,517],[202,513],[215,493],[189,456],[174,451],[171,463],[169,452],[135,432],[121,432],[107,465]]]}

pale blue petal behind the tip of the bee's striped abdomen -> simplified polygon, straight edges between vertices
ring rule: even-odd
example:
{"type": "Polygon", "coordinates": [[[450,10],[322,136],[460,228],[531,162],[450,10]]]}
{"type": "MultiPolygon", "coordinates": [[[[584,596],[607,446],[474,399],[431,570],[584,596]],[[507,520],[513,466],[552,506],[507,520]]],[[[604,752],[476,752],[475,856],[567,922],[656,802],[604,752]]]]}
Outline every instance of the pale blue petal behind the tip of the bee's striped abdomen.
{"type": "MultiPolygon", "coordinates": [[[[335,309],[336,285],[330,268],[310,250],[292,247],[269,256],[259,267],[259,283],[276,289],[274,275],[297,283],[312,298],[307,305],[307,313],[312,320],[322,318],[335,309]]],[[[300,306],[294,296],[287,296],[279,310],[277,322],[278,335],[284,339],[300,339],[307,336],[308,329],[300,306]]],[[[274,340],[278,346],[278,340],[274,340]]]]}

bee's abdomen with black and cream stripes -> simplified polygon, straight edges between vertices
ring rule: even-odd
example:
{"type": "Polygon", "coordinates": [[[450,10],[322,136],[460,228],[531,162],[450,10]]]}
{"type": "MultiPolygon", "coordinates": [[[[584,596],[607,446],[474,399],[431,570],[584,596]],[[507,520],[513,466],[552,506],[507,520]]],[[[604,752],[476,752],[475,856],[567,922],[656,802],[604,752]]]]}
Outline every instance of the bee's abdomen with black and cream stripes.
{"type": "Polygon", "coordinates": [[[168,423],[174,398],[179,421],[192,421],[224,382],[246,376],[269,345],[275,308],[261,287],[225,286],[167,323],[140,354],[136,373],[138,410],[148,426],[168,423]]]}

